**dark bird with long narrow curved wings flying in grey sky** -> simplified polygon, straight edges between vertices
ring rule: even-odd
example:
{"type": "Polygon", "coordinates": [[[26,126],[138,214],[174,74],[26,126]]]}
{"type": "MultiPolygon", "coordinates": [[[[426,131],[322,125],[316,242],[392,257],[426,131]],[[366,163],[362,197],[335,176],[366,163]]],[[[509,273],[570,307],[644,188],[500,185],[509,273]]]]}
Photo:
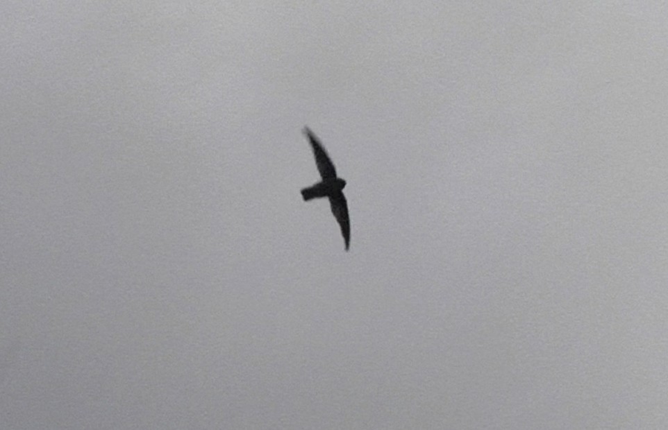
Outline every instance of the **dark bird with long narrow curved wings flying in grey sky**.
{"type": "Polygon", "coordinates": [[[346,202],[346,197],[343,195],[346,181],[336,175],[334,163],[310,128],[304,127],[302,131],[308,137],[308,141],[311,144],[313,155],[315,155],[315,164],[322,177],[322,181],[302,189],[301,196],[305,202],[319,197],[329,199],[332,214],[334,214],[334,218],[336,218],[341,227],[341,234],[343,235],[347,251],[350,246],[350,218],[348,216],[348,203],[346,202]]]}

